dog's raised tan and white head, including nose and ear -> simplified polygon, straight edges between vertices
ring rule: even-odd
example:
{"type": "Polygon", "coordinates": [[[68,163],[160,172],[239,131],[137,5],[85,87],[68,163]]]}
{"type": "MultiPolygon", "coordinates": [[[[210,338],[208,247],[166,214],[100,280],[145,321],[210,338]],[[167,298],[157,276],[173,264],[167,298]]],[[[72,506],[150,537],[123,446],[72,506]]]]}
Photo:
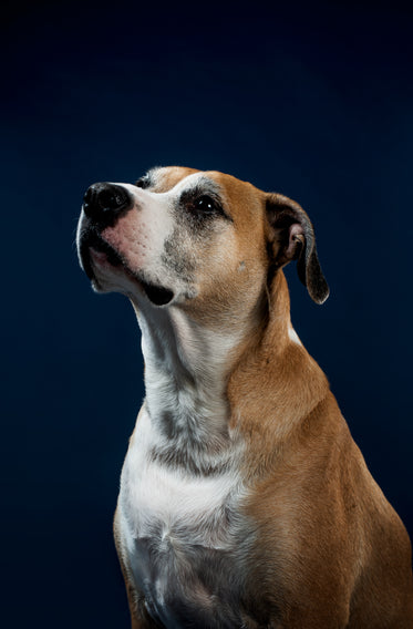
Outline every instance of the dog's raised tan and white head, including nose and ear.
{"type": "Polygon", "coordinates": [[[293,259],[311,298],[328,297],[303,209],[218,172],[155,168],[134,185],[92,185],[78,247],[95,290],[137,305],[229,312],[254,303],[293,259]]]}

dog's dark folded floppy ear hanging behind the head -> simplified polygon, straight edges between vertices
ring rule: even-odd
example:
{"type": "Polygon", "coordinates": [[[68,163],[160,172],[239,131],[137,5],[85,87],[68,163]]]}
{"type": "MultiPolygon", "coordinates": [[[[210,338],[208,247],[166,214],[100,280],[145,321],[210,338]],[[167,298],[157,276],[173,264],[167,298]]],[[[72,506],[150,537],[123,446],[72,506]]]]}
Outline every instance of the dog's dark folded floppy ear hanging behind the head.
{"type": "Polygon", "coordinates": [[[297,260],[297,272],[316,303],[323,303],[329,287],[317,256],[316,236],[311,221],[295,200],[280,195],[267,195],[267,218],[272,262],[281,268],[297,260]]]}

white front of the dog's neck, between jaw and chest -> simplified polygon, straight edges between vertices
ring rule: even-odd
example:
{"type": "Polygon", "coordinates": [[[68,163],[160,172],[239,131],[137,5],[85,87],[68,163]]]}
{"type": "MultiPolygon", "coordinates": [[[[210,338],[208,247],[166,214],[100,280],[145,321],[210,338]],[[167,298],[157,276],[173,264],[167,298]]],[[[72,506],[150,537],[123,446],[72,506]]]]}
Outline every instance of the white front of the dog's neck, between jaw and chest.
{"type": "Polygon", "coordinates": [[[164,444],[218,454],[228,442],[226,382],[239,333],[213,332],[178,307],[136,308],[146,410],[164,444]]]}

